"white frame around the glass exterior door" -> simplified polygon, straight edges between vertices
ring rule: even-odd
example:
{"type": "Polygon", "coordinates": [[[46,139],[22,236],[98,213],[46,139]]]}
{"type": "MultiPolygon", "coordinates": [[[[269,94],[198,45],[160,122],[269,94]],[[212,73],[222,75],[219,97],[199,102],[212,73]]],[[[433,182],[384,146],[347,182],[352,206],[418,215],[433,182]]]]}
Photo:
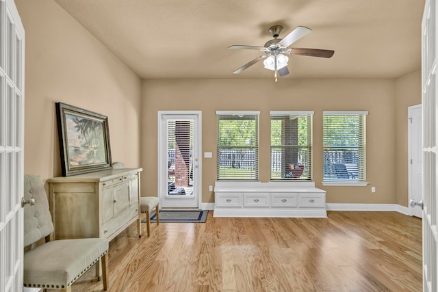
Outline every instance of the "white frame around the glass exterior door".
{"type": "Polygon", "coordinates": [[[201,209],[202,204],[202,111],[157,111],[157,196],[159,198],[159,204],[162,206],[163,194],[167,195],[167,187],[163,188],[162,181],[164,177],[168,177],[168,167],[167,163],[164,165],[162,163],[162,156],[164,155],[164,145],[163,145],[163,128],[164,123],[162,122],[163,116],[196,116],[197,122],[196,127],[194,127],[194,137],[196,137],[196,145],[194,146],[194,157],[198,159],[198,167],[194,171],[194,196],[197,200],[197,208],[201,209]]]}

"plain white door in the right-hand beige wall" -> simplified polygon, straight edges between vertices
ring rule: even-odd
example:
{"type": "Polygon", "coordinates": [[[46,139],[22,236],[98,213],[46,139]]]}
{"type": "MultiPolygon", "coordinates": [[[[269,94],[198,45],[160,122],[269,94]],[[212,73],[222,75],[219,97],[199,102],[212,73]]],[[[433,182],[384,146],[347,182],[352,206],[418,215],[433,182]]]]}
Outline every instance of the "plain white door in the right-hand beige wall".
{"type": "MultiPolygon", "coordinates": [[[[423,198],[422,105],[408,107],[409,201],[423,198]]],[[[411,215],[423,217],[421,208],[409,204],[411,215]]]]}

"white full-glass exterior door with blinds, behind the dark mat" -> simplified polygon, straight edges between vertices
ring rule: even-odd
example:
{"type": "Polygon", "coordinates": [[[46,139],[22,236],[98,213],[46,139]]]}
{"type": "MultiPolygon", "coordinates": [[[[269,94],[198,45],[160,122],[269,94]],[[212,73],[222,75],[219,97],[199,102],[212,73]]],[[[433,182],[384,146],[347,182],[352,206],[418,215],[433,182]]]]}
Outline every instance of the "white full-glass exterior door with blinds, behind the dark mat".
{"type": "Polygon", "coordinates": [[[158,112],[161,208],[200,208],[201,111],[158,112]]]}

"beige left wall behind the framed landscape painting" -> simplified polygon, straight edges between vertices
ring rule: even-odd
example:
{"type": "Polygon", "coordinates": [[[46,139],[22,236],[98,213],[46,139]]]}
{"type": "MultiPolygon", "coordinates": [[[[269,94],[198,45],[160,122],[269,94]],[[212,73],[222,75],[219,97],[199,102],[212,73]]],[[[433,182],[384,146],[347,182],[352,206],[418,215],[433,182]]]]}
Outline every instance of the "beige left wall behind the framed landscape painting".
{"type": "Polygon", "coordinates": [[[141,81],[52,0],[16,0],[25,27],[25,173],[61,175],[55,102],[108,116],[113,161],[140,166],[141,81]]]}

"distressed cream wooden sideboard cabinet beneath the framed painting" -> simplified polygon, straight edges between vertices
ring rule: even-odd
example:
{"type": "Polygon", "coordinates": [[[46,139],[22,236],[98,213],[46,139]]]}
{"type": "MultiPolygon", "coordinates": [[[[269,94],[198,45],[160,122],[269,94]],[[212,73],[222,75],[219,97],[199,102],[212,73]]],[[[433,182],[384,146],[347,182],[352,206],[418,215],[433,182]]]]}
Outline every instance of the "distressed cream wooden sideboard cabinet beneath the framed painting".
{"type": "Polygon", "coordinates": [[[111,169],[50,178],[49,205],[55,239],[113,239],[138,221],[141,168],[111,169]]]}

